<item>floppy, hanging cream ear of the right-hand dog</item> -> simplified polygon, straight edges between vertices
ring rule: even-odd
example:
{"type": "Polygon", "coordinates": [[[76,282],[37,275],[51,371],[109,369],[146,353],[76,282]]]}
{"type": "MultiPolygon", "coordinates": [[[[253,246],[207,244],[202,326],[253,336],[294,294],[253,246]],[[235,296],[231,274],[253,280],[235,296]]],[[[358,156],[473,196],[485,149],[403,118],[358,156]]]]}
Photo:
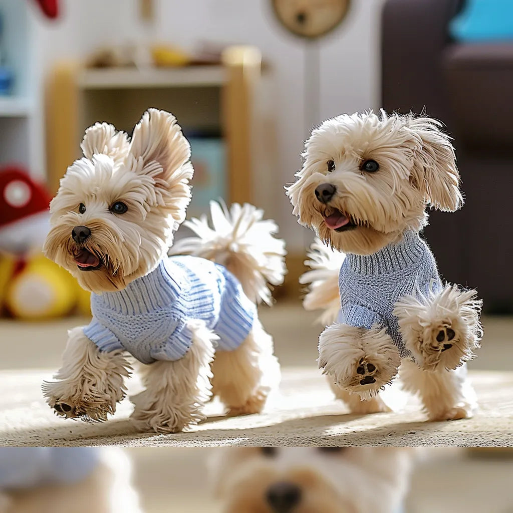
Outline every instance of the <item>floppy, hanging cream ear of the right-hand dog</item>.
{"type": "Polygon", "coordinates": [[[406,129],[418,142],[411,178],[428,204],[453,212],[463,205],[460,174],[450,137],[441,126],[429,117],[408,118],[406,129]]]}

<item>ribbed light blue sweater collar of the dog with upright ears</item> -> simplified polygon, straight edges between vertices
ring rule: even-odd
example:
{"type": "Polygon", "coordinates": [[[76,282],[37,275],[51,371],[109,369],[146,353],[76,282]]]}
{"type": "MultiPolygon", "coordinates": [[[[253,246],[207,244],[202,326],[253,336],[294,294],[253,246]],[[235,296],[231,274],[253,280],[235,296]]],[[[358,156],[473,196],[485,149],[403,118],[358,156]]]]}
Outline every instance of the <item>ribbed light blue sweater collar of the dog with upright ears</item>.
{"type": "Polygon", "coordinates": [[[170,275],[168,262],[169,259],[162,260],[153,271],[129,283],[123,290],[103,292],[97,299],[106,308],[126,315],[169,306],[180,287],[170,275]]]}

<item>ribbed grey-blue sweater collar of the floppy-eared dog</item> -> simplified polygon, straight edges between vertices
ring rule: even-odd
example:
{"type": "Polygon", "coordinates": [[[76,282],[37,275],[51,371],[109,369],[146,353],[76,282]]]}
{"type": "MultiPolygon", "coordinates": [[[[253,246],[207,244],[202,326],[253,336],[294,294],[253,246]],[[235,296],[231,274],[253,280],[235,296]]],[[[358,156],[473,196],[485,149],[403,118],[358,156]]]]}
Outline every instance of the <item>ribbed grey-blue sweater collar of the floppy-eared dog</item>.
{"type": "Polygon", "coordinates": [[[401,271],[419,263],[426,246],[419,234],[404,232],[396,244],[388,244],[370,255],[347,254],[349,268],[358,274],[384,274],[401,271]]]}

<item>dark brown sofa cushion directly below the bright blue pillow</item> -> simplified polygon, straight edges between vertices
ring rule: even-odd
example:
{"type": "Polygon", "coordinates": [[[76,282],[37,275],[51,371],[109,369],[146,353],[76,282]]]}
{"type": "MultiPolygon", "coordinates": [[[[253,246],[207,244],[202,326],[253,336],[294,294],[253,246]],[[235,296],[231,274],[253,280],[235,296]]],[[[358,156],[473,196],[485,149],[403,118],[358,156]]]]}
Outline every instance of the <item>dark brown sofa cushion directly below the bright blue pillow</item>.
{"type": "Polygon", "coordinates": [[[513,144],[513,42],[451,45],[442,60],[458,145],[472,151],[509,152],[513,144]]]}

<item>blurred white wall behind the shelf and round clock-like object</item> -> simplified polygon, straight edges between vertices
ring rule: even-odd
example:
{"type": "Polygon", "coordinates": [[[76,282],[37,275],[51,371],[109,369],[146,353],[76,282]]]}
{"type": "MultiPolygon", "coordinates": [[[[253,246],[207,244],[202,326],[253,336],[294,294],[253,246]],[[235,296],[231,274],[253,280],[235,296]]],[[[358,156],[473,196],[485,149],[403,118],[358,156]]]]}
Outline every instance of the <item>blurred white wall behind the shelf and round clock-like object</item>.
{"type": "MultiPolygon", "coordinates": [[[[272,214],[291,250],[309,234],[292,218],[281,185],[293,180],[308,133],[304,113],[304,41],[275,21],[270,0],[154,0],[155,22],[137,16],[138,0],[61,0],[55,22],[36,13],[38,61],[44,71],[63,58],[87,55],[97,46],[160,40],[191,48],[199,40],[258,46],[272,66],[277,107],[277,169],[280,187],[272,214]]],[[[352,0],[344,25],[320,43],[320,119],[378,107],[378,32],[383,0],[352,0]]],[[[35,10],[34,7],[32,7],[35,10]]],[[[265,151],[265,149],[263,149],[265,151]]]]}

